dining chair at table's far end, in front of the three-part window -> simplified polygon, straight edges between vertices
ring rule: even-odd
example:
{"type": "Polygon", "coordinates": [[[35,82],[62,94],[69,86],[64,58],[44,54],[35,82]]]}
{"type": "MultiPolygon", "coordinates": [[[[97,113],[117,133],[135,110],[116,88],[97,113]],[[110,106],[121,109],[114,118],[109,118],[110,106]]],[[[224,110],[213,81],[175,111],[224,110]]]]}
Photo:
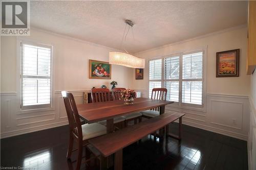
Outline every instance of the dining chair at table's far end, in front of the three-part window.
{"type": "MultiPolygon", "coordinates": [[[[151,93],[151,99],[166,101],[166,88],[153,88],[151,93]]],[[[141,111],[142,117],[152,118],[160,115],[160,107],[141,111]]]]}

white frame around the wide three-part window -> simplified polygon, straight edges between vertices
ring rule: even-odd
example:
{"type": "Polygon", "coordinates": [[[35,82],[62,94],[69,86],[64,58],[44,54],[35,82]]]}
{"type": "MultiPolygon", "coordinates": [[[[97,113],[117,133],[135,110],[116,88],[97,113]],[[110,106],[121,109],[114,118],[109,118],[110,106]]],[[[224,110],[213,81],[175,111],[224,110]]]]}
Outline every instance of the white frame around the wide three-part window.
{"type": "MultiPolygon", "coordinates": [[[[189,50],[189,51],[184,51],[184,52],[179,52],[179,53],[172,53],[169,55],[164,55],[161,57],[157,58],[151,58],[148,60],[148,69],[150,69],[150,61],[152,60],[158,60],[162,59],[162,80],[161,80],[161,87],[164,88],[164,82],[172,82],[172,81],[177,81],[177,79],[164,79],[164,59],[169,58],[169,57],[177,57],[179,56],[179,102],[174,102],[172,104],[172,107],[177,107],[177,108],[183,108],[183,109],[189,109],[189,110],[195,110],[195,111],[203,111],[206,112],[206,75],[207,75],[207,46],[203,48],[198,48],[198,50],[189,50]],[[183,62],[183,55],[187,54],[193,54],[193,53],[203,53],[202,57],[202,105],[197,105],[197,104],[189,104],[189,103],[183,103],[182,102],[182,82],[184,80],[187,81],[196,81],[199,79],[183,79],[182,78],[182,62],[183,62]]],[[[148,74],[148,90],[149,91],[149,83],[151,81],[155,80],[150,80],[149,74],[148,74]]],[[[185,81],[184,81],[185,82],[185,81]]],[[[151,98],[151,96],[148,96],[148,98],[151,98]]]]}

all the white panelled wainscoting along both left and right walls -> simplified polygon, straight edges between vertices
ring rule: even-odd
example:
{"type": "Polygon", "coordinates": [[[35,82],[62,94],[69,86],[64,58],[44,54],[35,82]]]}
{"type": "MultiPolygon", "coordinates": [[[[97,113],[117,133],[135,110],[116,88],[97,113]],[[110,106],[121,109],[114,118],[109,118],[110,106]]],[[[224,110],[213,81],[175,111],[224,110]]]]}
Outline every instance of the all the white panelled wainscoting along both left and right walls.
{"type": "MultiPolygon", "coordinates": [[[[135,90],[147,98],[147,90],[135,90]]],[[[76,104],[82,104],[84,91],[89,90],[70,91],[76,104]]],[[[54,92],[54,106],[50,109],[20,112],[17,103],[15,92],[1,93],[1,138],[68,124],[61,91],[54,92]]],[[[173,104],[165,109],[165,112],[185,113],[183,124],[247,140],[250,113],[247,96],[207,94],[206,111],[183,109],[173,104]]]]}

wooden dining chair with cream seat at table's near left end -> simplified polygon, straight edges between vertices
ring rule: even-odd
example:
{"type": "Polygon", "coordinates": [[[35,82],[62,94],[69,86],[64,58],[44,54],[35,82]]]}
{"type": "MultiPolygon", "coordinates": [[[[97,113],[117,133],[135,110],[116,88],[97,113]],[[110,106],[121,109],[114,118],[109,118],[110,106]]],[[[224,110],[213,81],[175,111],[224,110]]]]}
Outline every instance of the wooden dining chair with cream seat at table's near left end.
{"type": "MultiPolygon", "coordinates": [[[[99,124],[84,124],[81,125],[78,115],[76,103],[72,93],[67,91],[61,91],[65,108],[69,120],[69,148],[67,153],[67,159],[71,158],[72,152],[78,150],[76,170],[80,169],[82,161],[82,147],[89,144],[88,139],[106,134],[106,127],[99,124]],[[74,141],[77,143],[78,148],[73,150],[74,141]]],[[[86,150],[87,152],[88,150],[86,150]]],[[[88,153],[86,153],[88,154],[88,153]]],[[[91,159],[87,159],[90,161],[91,159]]]]}

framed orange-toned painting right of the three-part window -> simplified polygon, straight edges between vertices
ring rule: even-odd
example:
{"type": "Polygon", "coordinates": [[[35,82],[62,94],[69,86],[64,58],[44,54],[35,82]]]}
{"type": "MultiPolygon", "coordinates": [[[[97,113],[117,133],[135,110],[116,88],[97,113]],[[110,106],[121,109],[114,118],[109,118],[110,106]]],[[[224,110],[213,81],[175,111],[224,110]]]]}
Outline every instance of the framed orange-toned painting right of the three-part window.
{"type": "Polygon", "coordinates": [[[216,53],[216,77],[239,77],[240,50],[216,53]]]}

